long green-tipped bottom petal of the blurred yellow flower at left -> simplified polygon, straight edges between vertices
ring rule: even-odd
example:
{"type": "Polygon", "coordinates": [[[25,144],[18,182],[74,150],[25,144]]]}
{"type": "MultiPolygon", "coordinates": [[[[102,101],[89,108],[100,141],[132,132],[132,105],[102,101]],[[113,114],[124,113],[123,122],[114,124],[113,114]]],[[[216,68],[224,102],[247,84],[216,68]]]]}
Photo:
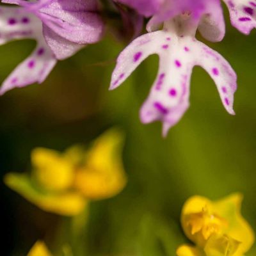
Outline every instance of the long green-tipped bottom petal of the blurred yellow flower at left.
{"type": "Polygon", "coordinates": [[[83,211],[86,200],[78,193],[44,193],[36,189],[28,175],[9,173],[4,182],[26,200],[47,212],[74,216],[83,211]]]}

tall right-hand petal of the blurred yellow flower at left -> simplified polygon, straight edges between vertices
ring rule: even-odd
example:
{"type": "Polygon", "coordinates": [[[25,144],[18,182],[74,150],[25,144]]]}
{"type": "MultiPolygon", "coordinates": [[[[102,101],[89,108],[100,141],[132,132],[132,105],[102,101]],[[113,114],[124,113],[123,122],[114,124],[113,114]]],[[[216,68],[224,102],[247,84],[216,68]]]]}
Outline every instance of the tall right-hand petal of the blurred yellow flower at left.
{"type": "Polygon", "coordinates": [[[122,144],[123,136],[116,130],[104,133],[93,143],[86,166],[77,171],[74,185],[86,198],[108,198],[124,188],[122,144]]]}

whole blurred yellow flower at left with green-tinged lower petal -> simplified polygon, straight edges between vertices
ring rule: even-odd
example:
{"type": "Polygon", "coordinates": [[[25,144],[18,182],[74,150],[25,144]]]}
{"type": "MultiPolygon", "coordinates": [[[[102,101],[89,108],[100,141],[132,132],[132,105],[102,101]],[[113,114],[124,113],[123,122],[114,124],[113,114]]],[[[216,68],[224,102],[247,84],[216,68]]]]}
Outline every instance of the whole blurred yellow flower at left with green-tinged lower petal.
{"type": "Polygon", "coordinates": [[[44,211],[76,215],[88,201],[115,196],[124,188],[122,143],[122,134],[111,130],[95,140],[89,150],[74,146],[61,154],[35,148],[31,175],[9,173],[4,180],[44,211]]]}

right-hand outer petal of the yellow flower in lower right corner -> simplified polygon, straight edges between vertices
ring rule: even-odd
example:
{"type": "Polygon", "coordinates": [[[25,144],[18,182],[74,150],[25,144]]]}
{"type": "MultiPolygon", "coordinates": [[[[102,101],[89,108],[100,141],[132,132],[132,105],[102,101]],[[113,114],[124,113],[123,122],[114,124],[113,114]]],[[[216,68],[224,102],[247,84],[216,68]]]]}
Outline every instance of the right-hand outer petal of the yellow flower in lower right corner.
{"type": "Polygon", "coordinates": [[[226,233],[228,236],[240,241],[236,255],[241,256],[247,252],[255,241],[255,234],[243,216],[241,216],[241,202],[243,196],[239,193],[232,194],[212,205],[214,211],[228,220],[226,233]]]}

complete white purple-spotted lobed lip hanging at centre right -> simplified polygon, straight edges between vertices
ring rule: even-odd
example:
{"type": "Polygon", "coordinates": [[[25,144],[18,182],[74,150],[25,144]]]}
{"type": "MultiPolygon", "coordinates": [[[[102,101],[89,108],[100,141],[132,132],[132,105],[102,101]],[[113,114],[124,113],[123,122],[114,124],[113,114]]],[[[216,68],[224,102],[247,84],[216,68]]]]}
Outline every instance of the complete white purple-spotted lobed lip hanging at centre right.
{"type": "Polygon", "coordinates": [[[211,76],[223,106],[234,115],[236,73],[218,52],[196,40],[195,28],[191,28],[189,20],[183,20],[182,26],[177,28],[177,20],[173,20],[164,30],[134,40],[121,52],[111,78],[110,89],[113,90],[150,54],[159,55],[158,74],[140,110],[140,119],[144,124],[163,122],[164,136],[189,107],[190,77],[196,65],[211,76]]]}

